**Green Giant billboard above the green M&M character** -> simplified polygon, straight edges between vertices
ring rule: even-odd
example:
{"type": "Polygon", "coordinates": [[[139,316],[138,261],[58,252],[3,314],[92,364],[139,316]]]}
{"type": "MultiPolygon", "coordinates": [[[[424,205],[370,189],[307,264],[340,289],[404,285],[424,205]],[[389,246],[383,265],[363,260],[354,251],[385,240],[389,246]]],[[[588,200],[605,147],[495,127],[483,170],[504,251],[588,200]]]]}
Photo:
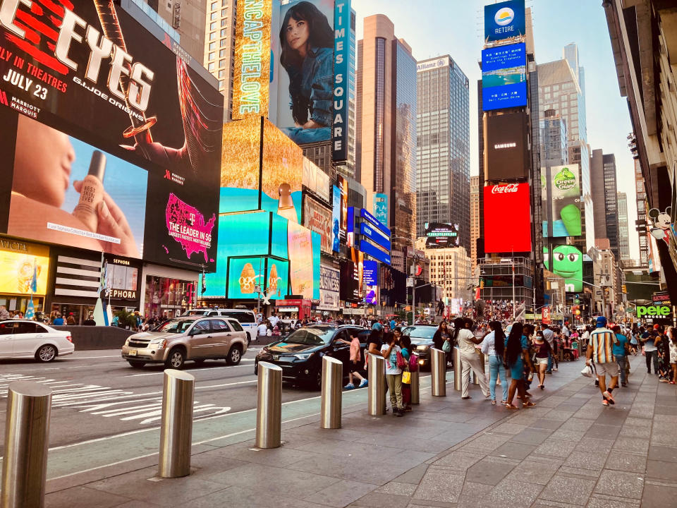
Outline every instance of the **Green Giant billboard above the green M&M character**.
{"type": "Polygon", "coordinates": [[[543,236],[580,236],[580,179],[578,164],[541,168],[543,236]]]}

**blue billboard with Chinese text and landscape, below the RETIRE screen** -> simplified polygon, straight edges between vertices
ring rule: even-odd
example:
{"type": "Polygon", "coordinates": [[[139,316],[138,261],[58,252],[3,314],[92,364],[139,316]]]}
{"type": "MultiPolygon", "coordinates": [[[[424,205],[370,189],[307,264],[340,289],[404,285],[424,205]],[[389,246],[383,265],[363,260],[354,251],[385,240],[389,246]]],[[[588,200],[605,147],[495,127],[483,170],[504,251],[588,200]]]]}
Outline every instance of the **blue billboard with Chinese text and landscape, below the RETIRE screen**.
{"type": "Polygon", "coordinates": [[[527,105],[525,44],[482,49],[482,109],[527,105]]]}

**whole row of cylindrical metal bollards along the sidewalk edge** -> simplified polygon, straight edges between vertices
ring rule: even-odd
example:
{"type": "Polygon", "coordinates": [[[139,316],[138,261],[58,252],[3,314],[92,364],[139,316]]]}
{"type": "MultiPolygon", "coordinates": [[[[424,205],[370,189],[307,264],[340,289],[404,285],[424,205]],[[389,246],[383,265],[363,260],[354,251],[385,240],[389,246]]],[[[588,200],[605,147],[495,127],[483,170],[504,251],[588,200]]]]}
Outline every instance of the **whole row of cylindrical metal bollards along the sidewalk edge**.
{"type": "MultiPolygon", "coordinates": [[[[432,394],[446,395],[444,351],[431,350],[432,394]]],[[[370,415],[386,413],[385,358],[368,356],[370,415]]],[[[458,365],[458,364],[457,364],[458,365]]],[[[419,373],[411,373],[411,402],[419,404],[419,373]]],[[[281,444],[282,369],[258,363],[256,436],[257,448],[281,444]]],[[[341,428],[343,363],[322,358],[322,406],[320,426],[341,428]]],[[[178,478],[190,474],[193,438],[195,377],[180,370],[164,371],[158,476],[178,478]]],[[[8,387],[4,458],[0,480],[0,508],[42,508],[47,480],[47,451],[51,389],[36,382],[16,381],[8,387]]]]}

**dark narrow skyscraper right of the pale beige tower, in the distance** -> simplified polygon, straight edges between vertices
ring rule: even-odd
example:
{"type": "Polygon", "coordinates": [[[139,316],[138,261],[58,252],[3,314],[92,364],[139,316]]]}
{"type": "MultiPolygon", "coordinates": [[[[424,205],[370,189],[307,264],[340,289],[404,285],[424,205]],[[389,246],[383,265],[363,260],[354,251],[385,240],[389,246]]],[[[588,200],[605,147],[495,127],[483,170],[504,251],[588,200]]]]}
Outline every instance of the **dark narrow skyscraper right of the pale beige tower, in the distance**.
{"type": "MultiPolygon", "coordinates": [[[[618,241],[618,189],[616,188],[616,156],[592,150],[592,202],[594,203],[594,236],[609,238],[609,248],[620,259],[618,241]]],[[[627,207],[627,205],[626,205],[627,207]]]]}

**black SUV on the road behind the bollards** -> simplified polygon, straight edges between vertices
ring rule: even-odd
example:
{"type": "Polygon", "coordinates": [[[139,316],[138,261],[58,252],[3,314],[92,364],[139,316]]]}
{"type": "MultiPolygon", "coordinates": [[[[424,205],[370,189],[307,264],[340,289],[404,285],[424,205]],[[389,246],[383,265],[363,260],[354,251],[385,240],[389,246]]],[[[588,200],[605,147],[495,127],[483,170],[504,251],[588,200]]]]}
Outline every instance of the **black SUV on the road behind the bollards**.
{"type": "Polygon", "coordinates": [[[362,363],[369,330],[353,325],[310,325],[288,334],[287,337],[265,346],[257,354],[254,373],[258,373],[260,361],[273,363],[282,368],[282,380],[295,385],[307,384],[317,389],[322,387],[322,356],[329,355],[343,362],[343,376],[348,376],[350,342],[353,332],[358,333],[362,363]]]}

